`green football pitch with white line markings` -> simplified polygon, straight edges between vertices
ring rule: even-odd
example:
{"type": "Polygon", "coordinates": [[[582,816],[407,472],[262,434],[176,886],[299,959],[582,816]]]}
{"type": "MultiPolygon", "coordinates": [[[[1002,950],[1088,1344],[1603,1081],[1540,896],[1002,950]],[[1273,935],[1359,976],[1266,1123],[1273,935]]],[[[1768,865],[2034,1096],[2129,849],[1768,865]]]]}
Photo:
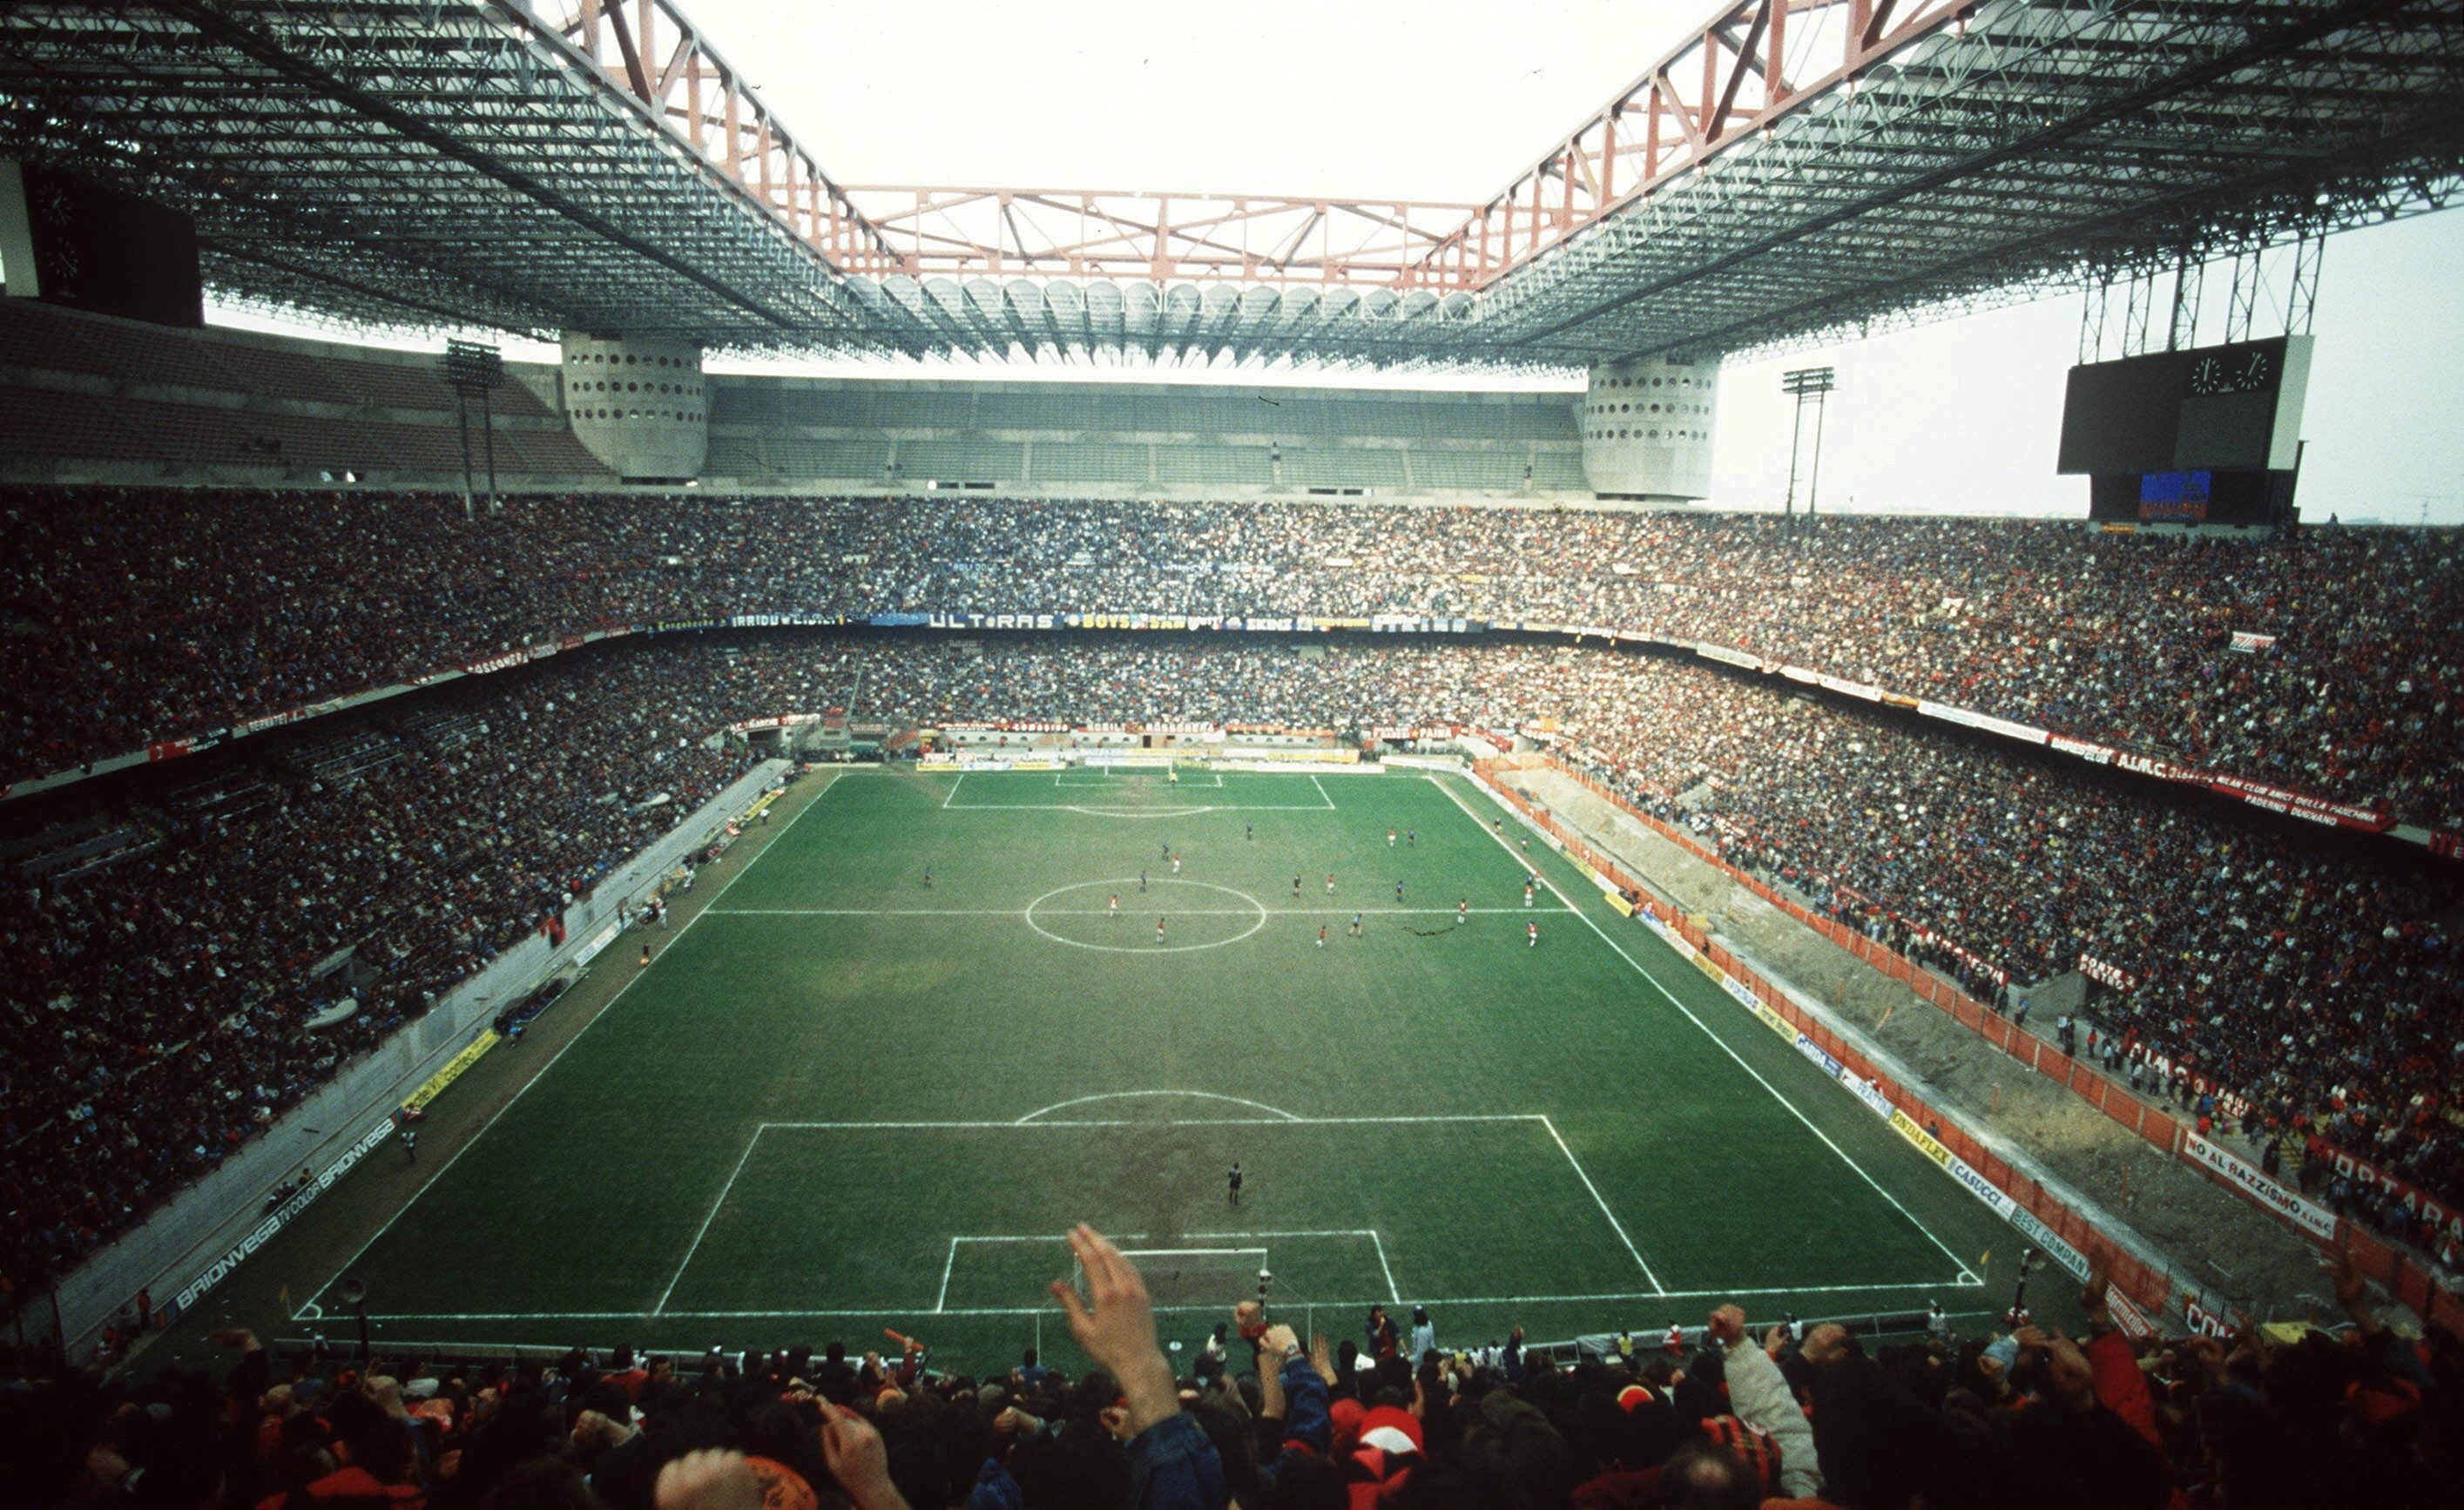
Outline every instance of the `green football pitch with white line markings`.
{"type": "Polygon", "coordinates": [[[1262,1269],[1451,1342],[2008,1301],[2018,1234],[1501,818],[1412,771],[838,773],[340,1274],[387,1347],[976,1362],[1067,1357],[1079,1219],[1190,1342],[1262,1269]]]}

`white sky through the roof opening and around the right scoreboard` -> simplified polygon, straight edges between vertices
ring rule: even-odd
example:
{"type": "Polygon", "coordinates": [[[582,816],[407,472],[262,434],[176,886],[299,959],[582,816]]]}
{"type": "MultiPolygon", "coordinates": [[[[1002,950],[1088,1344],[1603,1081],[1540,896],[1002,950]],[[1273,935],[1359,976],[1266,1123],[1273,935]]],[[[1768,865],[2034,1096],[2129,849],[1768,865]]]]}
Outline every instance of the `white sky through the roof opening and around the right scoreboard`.
{"type": "MultiPolygon", "coordinates": [[[[1710,5],[685,0],[685,10],[840,182],[1476,202],[1643,74],[1710,5]]],[[[2449,365],[2464,350],[2457,268],[2464,214],[2328,244],[2301,431],[2306,517],[2415,522],[2427,503],[2432,520],[2464,522],[2464,384],[2449,365]]],[[[2223,278],[2208,283],[2220,303],[2223,278]]],[[[2077,330],[2080,298],[2067,296],[1727,367],[1712,503],[1777,507],[1789,466],[1779,372],[1833,362],[1826,503],[2085,515],[2085,478],[2053,473],[2077,330]]]]}

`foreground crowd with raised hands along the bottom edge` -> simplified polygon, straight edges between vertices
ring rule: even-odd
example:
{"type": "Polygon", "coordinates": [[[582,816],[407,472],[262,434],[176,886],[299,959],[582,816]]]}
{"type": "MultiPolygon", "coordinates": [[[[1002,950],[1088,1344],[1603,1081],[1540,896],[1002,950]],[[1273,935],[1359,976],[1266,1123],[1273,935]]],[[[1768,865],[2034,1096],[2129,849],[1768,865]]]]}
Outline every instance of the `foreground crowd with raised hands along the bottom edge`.
{"type": "Polygon", "coordinates": [[[2087,1328],[1865,1340],[1720,1306],[1661,1345],[1572,1360],[1469,1347],[1372,1310],[1333,1347],[1242,1303],[1178,1372],[1136,1264],[1069,1239],[1055,1301],[1092,1367],[1030,1350],[944,1372],[825,1350],[426,1367],[276,1367],[224,1333],[224,1379],[0,1392],[10,1498],[224,1510],[1841,1510],[2447,1505],[2464,1345],[2378,1323],[2294,1342],[2134,1345],[2087,1328]]]}

